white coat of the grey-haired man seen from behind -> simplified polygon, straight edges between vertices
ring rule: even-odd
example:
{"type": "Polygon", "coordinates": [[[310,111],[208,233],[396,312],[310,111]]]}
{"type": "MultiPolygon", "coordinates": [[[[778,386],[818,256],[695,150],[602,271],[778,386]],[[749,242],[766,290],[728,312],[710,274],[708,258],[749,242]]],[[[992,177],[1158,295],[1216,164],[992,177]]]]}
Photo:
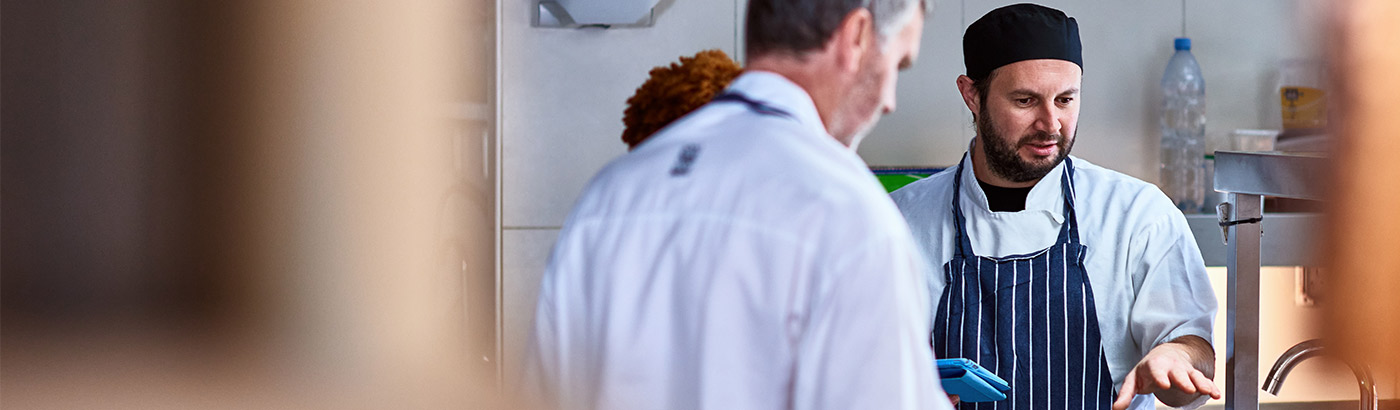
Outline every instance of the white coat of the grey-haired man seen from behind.
{"type": "Polygon", "coordinates": [[[794,118],[711,104],[594,178],[540,285],[526,393],[563,409],[949,407],[927,264],[895,204],[797,84],[746,73],[731,90],[794,118]]]}

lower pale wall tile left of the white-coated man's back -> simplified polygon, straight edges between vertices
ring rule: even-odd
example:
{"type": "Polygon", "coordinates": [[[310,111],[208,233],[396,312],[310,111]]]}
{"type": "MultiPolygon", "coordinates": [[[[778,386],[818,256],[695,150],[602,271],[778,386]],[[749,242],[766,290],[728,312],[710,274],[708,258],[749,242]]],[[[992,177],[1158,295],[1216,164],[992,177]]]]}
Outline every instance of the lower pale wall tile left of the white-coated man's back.
{"type": "Polygon", "coordinates": [[[501,347],[504,358],[503,382],[512,388],[521,379],[521,361],[525,357],[525,343],[535,323],[535,301],[539,298],[539,280],[545,274],[545,263],[554,246],[559,229],[507,229],[501,235],[501,347]]]}

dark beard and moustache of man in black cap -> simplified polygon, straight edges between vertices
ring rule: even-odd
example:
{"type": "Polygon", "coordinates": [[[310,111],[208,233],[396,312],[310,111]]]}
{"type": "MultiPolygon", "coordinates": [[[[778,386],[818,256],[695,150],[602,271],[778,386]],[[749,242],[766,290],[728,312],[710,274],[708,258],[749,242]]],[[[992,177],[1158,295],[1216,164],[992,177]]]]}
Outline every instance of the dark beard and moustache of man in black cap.
{"type": "Polygon", "coordinates": [[[974,122],[977,123],[977,137],[981,140],[981,151],[987,154],[987,168],[993,174],[997,174],[997,176],[1011,182],[1030,182],[1046,176],[1046,174],[1050,174],[1050,169],[1054,169],[1056,165],[1060,165],[1060,161],[1064,161],[1070,155],[1070,148],[1074,146],[1072,139],[1046,132],[1036,132],[1011,141],[1002,137],[997,126],[991,123],[991,116],[987,113],[986,105],[983,105],[981,113],[977,115],[974,122]],[[1056,153],[1054,158],[1037,162],[1021,158],[1019,151],[1022,146],[1040,141],[1056,141],[1058,153],[1056,153]]]}

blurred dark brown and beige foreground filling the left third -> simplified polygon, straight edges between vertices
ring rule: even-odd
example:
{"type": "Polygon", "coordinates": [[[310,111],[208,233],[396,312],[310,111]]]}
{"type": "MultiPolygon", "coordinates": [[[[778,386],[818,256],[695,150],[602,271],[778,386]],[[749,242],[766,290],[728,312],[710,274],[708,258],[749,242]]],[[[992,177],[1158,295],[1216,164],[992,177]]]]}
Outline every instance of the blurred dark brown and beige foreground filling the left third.
{"type": "Polygon", "coordinates": [[[501,407],[466,4],[4,3],[0,407],[501,407]]]}

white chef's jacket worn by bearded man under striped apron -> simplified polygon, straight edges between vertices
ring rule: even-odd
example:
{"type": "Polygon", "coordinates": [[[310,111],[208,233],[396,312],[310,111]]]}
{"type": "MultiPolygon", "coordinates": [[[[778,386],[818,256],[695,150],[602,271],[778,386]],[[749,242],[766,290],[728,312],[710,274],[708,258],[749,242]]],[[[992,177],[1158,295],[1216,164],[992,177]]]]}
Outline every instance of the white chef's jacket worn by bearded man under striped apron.
{"type": "MultiPolygon", "coordinates": [[[[1152,347],[1189,334],[1211,340],[1215,291],[1186,217],[1162,190],[1071,158],[1079,239],[1088,246],[1084,264],[1116,395],[1152,347]]],[[[1064,222],[1064,162],[1030,189],[1026,208],[1016,213],[991,211],[966,154],[963,164],[960,206],[976,255],[1002,257],[1054,243],[1064,222]]],[[[930,288],[935,302],[944,291],[944,263],[958,243],[949,208],[955,171],[949,167],[892,195],[914,241],[934,263],[930,288]]],[[[1140,395],[1131,409],[1152,409],[1152,403],[1151,395],[1140,395]]]]}

